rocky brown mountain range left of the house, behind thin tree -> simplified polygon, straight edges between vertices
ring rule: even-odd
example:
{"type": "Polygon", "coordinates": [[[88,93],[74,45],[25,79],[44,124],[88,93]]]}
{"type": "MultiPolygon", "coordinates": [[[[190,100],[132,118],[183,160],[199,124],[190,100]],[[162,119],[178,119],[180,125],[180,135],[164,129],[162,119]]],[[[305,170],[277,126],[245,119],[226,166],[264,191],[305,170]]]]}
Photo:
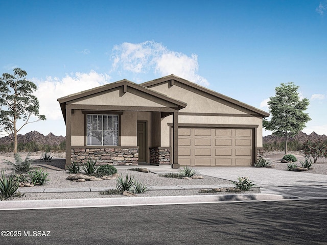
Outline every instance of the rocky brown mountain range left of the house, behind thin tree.
{"type": "MultiPolygon", "coordinates": [[[[37,131],[31,131],[27,134],[17,134],[17,142],[27,143],[34,141],[37,144],[49,144],[49,145],[56,145],[60,144],[66,137],[63,136],[56,136],[53,133],[48,135],[43,135],[37,131]]],[[[9,136],[5,136],[0,138],[0,144],[10,144],[12,141],[9,136]]]]}

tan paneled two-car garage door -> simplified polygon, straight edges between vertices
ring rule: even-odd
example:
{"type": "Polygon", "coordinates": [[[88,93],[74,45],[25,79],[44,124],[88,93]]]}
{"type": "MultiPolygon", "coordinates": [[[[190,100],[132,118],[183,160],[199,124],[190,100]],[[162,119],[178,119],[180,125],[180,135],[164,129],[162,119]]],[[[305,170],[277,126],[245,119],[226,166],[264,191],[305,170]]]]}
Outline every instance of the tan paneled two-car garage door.
{"type": "Polygon", "coordinates": [[[252,129],[179,128],[178,161],[182,166],[250,166],[252,129]]]}

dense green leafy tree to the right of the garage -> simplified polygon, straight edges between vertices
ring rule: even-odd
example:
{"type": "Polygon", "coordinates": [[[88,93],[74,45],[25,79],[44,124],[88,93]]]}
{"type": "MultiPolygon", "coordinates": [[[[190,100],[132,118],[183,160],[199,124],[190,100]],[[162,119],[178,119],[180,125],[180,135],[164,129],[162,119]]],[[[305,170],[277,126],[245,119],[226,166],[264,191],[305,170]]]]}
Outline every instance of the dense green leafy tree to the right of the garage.
{"type": "Polygon", "coordinates": [[[275,96],[270,97],[268,102],[271,119],[263,120],[266,130],[285,137],[285,155],[289,138],[298,134],[305,128],[306,122],[311,120],[308,113],[305,113],[310,102],[307,98],[300,100],[298,88],[294,83],[282,83],[280,87],[276,87],[275,96]]]}

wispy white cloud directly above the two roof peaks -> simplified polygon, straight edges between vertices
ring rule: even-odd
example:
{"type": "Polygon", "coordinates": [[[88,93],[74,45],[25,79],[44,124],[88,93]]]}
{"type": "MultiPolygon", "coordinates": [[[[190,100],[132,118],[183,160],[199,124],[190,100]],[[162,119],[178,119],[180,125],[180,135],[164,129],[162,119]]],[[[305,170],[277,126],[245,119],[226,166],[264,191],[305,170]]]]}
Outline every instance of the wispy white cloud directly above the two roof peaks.
{"type": "Polygon", "coordinates": [[[198,75],[198,56],[195,54],[187,56],[171,51],[154,41],[124,42],[115,45],[112,53],[112,71],[140,74],[154,70],[154,73],[160,76],[174,74],[203,86],[209,85],[205,78],[198,75]]]}

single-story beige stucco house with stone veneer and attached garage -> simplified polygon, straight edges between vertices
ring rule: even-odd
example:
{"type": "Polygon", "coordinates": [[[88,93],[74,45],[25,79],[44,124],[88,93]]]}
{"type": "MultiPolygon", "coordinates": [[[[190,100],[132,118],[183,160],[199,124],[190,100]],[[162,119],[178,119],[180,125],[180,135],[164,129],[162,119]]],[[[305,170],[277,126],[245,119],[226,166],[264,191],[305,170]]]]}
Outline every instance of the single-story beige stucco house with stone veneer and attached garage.
{"type": "Polygon", "coordinates": [[[269,113],[170,75],[126,79],[58,99],[66,165],[250,166],[269,113]]]}

